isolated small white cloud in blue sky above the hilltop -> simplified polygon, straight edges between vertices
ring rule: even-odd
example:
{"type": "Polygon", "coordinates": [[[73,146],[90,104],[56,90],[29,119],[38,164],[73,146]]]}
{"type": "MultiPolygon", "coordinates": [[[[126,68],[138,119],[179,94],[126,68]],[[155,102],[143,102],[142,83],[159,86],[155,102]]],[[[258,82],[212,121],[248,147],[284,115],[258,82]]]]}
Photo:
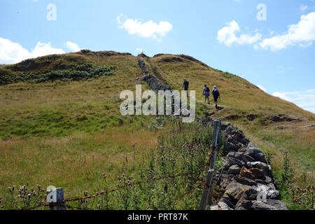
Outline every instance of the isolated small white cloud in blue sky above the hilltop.
{"type": "Polygon", "coordinates": [[[125,21],[122,22],[122,17],[123,14],[120,14],[117,18],[119,28],[125,29],[131,35],[137,34],[137,36],[160,40],[162,36],[165,36],[173,28],[173,25],[166,21],[160,21],[159,23],[155,23],[152,20],[140,22],[137,19],[125,18],[125,21]]]}

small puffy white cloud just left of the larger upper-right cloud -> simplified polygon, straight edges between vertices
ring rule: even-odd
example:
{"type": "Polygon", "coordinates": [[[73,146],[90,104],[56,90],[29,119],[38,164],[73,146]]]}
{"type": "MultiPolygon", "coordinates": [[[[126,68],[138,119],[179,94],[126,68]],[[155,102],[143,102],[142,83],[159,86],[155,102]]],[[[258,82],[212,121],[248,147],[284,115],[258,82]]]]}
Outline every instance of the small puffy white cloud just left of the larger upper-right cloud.
{"type": "Polygon", "coordinates": [[[223,43],[227,46],[237,43],[239,45],[252,44],[260,40],[261,34],[255,31],[254,35],[241,34],[239,37],[236,36],[236,33],[241,31],[239,25],[235,20],[226,23],[226,27],[223,27],[218,31],[217,39],[220,43],[223,43]]]}

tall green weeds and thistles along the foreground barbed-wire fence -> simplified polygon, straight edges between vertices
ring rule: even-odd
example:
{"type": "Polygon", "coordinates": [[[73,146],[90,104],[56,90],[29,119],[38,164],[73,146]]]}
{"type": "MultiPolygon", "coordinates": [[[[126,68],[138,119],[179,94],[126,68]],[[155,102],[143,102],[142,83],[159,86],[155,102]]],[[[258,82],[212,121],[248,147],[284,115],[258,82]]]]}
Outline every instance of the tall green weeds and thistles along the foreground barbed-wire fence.
{"type": "MultiPolygon", "coordinates": [[[[200,179],[204,179],[211,150],[211,133],[209,126],[174,121],[171,130],[159,137],[158,148],[152,148],[148,162],[144,161],[133,174],[125,167],[118,176],[110,172],[99,175],[97,188],[78,193],[85,199],[69,202],[69,206],[76,209],[197,209],[203,188],[200,179]],[[178,174],[183,175],[176,176],[178,174]],[[111,177],[116,183],[109,183],[111,177]],[[120,189],[109,193],[116,188],[120,189]]],[[[1,196],[2,209],[22,209],[44,203],[42,188],[37,188],[38,193],[28,185],[15,186],[15,189],[10,186],[1,196]]]]}

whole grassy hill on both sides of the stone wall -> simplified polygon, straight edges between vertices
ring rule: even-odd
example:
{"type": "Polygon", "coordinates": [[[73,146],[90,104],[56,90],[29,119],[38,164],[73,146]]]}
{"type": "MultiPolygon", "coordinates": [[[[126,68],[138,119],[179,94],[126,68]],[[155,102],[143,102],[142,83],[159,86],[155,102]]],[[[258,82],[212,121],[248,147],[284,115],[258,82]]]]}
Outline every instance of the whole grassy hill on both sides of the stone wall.
{"type": "MultiPolygon", "coordinates": [[[[62,186],[70,197],[97,189],[102,173],[111,174],[109,183],[122,173],[139,176],[158,137],[171,127],[165,118],[121,116],[120,92],[135,90],[139,83],[148,89],[139,79],[137,59],[128,53],[81,50],[0,65],[0,192],[28,181],[62,186]]],[[[143,59],[174,90],[181,90],[183,78],[190,81],[197,116],[211,114],[244,130],[272,155],[276,173],[282,169],[281,151],[288,151],[296,181],[305,174],[301,184],[314,184],[314,113],[187,55],[143,59]],[[223,110],[203,104],[204,84],[221,90],[223,110]],[[279,114],[289,119],[272,120],[279,114]],[[250,121],[248,115],[257,118],[250,121]]]]}

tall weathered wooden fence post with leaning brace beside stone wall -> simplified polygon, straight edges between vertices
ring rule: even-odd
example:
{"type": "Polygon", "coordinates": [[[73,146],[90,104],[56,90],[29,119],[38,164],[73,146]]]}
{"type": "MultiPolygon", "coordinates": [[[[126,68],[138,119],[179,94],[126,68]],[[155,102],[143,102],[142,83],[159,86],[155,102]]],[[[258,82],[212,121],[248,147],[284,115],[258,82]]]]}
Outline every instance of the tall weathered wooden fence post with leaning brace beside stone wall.
{"type": "MultiPolygon", "coordinates": [[[[216,154],[218,153],[217,148],[218,148],[218,135],[219,131],[221,130],[221,122],[220,120],[215,120],[214,121],[214,134],[212,135],[212,150],[213,154],[210,160],[210,169],[207,172],[207,178],[205,181],[205,185],[209,189],[210,193],[212,193],[212,179],[214,179],[214,171],[216,168],[216,154]]],[[[220,132],[221,134],[221,132],[220,132]]],[[[200,210],[204,210],[207,206],[207,204],[211,204],[211,197],[206,189],[204,187],[204,190],[202,191],[202,200],[200,202],[200,210]]]]}

